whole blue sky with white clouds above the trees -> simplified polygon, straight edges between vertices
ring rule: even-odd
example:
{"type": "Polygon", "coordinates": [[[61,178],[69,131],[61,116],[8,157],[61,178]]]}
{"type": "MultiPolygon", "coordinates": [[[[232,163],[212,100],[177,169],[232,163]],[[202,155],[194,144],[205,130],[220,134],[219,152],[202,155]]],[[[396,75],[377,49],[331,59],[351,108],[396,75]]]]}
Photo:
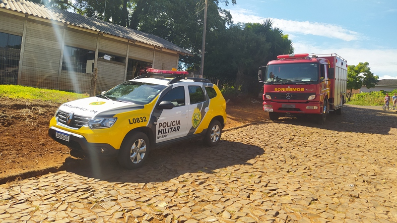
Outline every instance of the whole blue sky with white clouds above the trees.
{"type": "MultiPolygon", "coordinates": [[[[397,0],[237,0],[233,22],[270,18],[295,54],[337,54],[348,65],[368,62],[382,79],[397,79],[397,0]]],[[[265,65],[265,64],[264,64],[265,65]]]]}

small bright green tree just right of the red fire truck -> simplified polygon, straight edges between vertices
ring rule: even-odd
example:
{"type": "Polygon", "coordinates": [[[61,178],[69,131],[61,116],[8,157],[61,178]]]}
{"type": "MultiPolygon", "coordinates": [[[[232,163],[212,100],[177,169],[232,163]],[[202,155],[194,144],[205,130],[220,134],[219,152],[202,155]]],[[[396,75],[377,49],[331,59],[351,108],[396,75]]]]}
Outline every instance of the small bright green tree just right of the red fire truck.
{"type": "Polygon", "coordinates": [[[347,66],[346,88],[350,90],[348,94],[349,101],[353,90],[360,89],[362,86],[366,86],[367,89],[374,88],[378,83],[379,76],[374,76],[374,73],[371,72],[371,68],[368,65],[368,62],[359,62],[357,66],[347,66]]]}

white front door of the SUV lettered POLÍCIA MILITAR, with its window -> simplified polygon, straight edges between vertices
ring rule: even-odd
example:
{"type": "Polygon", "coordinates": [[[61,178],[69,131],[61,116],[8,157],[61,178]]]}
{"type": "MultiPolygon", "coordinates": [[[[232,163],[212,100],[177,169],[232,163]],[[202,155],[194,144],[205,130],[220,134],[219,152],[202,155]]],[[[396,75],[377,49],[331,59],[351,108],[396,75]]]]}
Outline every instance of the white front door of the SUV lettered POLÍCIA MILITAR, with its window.
{"type": "Polygon", "coordinates": [[[186,136],[188,106],[186,105],[184,86],[171,89],[164,96],[161,96],[159,101],[170,101],[174,104],[174,108],[164,109],[158,116],[155,133],[156,143],[186,136]]]}

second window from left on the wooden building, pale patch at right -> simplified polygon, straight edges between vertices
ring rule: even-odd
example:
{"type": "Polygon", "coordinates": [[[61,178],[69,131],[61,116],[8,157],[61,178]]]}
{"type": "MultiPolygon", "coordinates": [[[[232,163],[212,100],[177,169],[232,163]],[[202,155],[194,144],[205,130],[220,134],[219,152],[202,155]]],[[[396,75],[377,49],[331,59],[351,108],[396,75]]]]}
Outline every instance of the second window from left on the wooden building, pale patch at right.
{"type": "Polygon", "coordinates": [[[62,70],[76,73],[93,73],[94,58],[95,51],[65,46],[62,70]]]}

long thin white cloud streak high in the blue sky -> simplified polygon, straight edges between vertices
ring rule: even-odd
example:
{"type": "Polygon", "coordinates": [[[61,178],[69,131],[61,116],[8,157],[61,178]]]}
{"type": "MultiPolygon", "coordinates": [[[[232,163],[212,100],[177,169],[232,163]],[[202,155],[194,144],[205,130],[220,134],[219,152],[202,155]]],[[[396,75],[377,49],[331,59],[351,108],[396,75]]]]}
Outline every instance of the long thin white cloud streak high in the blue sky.
{"type": "MultiPolygon", "coordinates": [[[[252,12],[240,9],[230,10],[233,16],[233,21],[237,22],[258,22],[263,23],[266,18],[261,16],[253,15],[252,12]]],[[[341,39],[343,41],[352,41],[358,39],[358,33],[344,29],[343,27],[309,21],[292,21],[284,19],[270,18],[273,21],[273,27],[278,27],[286,34],[304,34],[304,35],[315,35],[334,39],[341,39]]]]}

